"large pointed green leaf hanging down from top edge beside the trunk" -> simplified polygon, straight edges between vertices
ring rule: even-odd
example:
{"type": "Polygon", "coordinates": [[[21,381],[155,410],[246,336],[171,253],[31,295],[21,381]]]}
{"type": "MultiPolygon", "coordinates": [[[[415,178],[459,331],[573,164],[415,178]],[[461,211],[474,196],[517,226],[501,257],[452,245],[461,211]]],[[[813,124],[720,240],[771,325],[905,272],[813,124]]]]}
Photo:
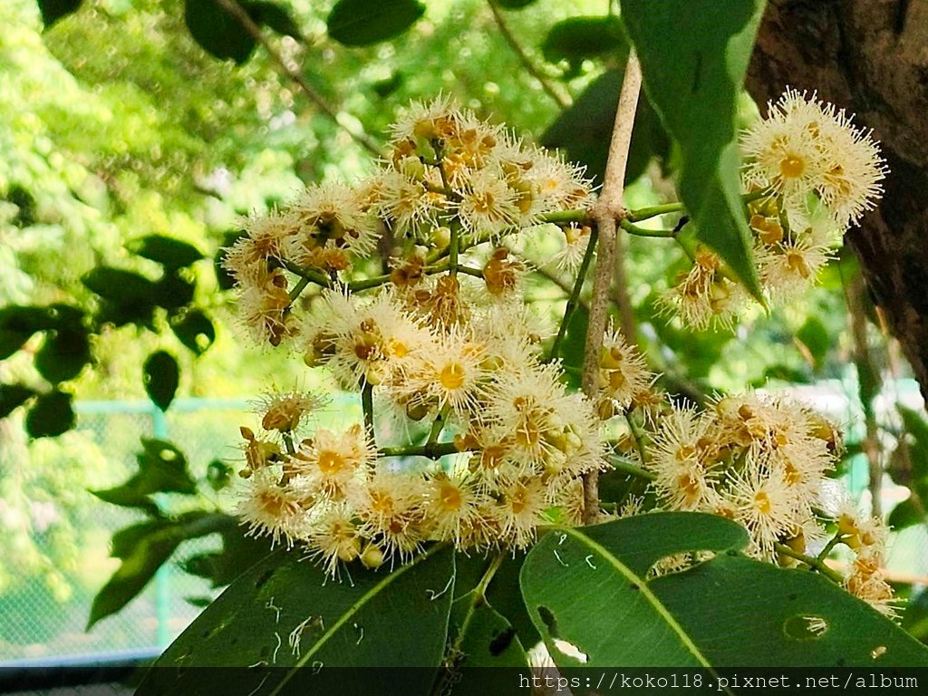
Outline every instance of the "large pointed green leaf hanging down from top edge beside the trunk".
{"type": "Polygon", "coordinates": [[[741,202],[735,117],[764,6],[764,0],[622,4],[647,95],[682,153],[680,198],[699,238],[762,303],[741,202]]]}

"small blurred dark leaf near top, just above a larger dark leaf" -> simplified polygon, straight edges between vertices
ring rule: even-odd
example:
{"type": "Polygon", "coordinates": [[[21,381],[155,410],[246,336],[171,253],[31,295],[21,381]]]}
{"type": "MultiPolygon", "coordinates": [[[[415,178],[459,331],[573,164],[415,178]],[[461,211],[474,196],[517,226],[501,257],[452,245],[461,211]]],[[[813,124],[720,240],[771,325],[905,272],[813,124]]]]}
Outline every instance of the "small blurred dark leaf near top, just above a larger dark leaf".
{"type": "MultiPolygon", "coordinates": [[[[562,19],[548,31],[541,52],[550,63],[579,64],[586,58],[628,54],[622,20],[615,15],[562,19]]],[[[616,93],[618,94],[618,93],[616,93]]],[[[614,110],[612,111],[614,115],[614,110]]]]}

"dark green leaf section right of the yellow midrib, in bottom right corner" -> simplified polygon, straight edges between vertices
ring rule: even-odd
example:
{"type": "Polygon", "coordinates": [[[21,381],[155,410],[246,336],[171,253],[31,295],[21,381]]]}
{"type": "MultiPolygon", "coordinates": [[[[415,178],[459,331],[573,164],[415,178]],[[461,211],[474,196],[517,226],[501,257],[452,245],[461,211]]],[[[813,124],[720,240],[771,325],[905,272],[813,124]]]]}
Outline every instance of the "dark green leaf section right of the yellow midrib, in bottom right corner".
{"type": "Polygon", "coordinates": [[[651,588],[711,664],[928,666],[925,646],[864,601],[804,570],[720,555],[659,577],[651,588]],[[810,616],[825,622],[818,637],[807,629],[810,616]]]}

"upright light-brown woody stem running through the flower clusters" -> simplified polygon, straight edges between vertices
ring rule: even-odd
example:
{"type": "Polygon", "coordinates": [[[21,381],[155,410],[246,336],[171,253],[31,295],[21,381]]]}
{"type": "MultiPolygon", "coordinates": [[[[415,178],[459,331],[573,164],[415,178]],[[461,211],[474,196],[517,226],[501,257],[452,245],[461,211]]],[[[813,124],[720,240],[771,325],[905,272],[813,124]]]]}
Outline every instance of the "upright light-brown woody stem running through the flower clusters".
{"type": "MultiPolygon", "coordinates": [[[[615,221],[624,219],[626,214],[622,203],[625,165],[628,163],[628,146],[631,144],[640,90],[641,66],[638,64],[635,51],[632,50],[625,64],[622,92],[619,95],[618,108],[615,110],[615,125],[612,128],[612,142],[609,144],[609,159],[606,161],[602,192],[592,211],[599,230],[599,250],[584,349],[583,391],[590,399],[596,397],[599,389],[599,351],[602,349],[602,334],[606,329],[610,286],[615,271],[615,221]]],[[[591,471],[584,475],[583,520],[589,524],[596,522],[598,518],[599,471],[591,471]]]]}

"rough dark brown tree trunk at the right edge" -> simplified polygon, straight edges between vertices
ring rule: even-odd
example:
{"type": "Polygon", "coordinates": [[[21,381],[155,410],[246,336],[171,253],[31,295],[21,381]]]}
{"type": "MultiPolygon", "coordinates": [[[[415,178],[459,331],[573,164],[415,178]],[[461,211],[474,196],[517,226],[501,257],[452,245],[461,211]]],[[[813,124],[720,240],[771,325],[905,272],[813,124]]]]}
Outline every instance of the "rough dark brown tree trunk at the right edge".
{"type": "Polygon", "coordinates": [[[748,89],[785,85],[857,113],[891,174],[848,233],[928,402],[928,0],[769,0],[748,89]]]}

